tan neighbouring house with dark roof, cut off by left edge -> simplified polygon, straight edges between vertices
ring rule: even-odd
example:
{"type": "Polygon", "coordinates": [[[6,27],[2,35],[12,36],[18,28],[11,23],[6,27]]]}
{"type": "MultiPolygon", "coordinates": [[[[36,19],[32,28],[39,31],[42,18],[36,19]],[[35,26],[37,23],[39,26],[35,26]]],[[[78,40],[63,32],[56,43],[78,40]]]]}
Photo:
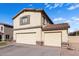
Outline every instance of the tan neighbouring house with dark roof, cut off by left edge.
{"type": "Polygon", "coordinates": [[[0,23],[0,41],[8,41],[13,39],[13,26],[0,23]]]}

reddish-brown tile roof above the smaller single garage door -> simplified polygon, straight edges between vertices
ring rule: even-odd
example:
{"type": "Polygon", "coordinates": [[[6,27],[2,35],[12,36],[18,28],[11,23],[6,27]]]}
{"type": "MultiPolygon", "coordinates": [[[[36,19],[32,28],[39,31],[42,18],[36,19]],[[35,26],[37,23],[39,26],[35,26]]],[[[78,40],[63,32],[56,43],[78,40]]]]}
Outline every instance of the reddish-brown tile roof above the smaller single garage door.
{"type": "Polygon", "coordinates": [[[68,29],[70,26],[68,23],[61,23],[61,24],[48,24],[47,26],[43,27],[44,31],[48,30],[64,30],[68,29]]]}

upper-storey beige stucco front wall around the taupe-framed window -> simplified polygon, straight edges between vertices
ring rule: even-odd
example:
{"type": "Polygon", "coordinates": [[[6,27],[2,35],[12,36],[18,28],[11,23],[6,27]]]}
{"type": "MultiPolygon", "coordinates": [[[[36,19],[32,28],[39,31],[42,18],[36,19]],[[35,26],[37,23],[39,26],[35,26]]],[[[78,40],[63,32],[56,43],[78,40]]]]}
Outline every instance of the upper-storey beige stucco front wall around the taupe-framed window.
{"type": "Polygon", "coordinates": [[[14,29],[41,26],[40,12],[23,12],[13,20],[14,29]],[[20,17],[30,15],[30,24],[20,25],[20,17]]]}

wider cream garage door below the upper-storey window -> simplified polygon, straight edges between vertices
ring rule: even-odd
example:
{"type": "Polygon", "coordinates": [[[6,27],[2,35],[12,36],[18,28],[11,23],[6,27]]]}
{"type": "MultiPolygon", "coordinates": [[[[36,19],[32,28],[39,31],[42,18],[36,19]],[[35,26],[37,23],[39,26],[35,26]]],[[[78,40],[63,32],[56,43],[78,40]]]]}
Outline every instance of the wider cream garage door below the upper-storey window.
{"type": "Polygon", "coordinates": [[[36,44],[36,33],[17,34],[17,42],[24,44],[36,44]]]}

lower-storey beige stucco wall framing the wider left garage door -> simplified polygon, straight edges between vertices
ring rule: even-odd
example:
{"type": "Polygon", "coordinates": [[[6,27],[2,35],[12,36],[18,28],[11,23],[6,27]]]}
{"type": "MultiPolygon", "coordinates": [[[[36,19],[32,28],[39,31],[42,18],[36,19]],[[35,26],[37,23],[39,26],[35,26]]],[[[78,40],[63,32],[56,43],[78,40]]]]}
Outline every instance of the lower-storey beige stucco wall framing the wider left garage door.
{"type": "Polygon", "coordinates": [[[19,40],[19,39],[17,40],[17,33],[31,33],[31,32],[36,32],[36,41],[41,40],[41,28],[14,31],[14,34],[13,34],[14,35],[14,40],[16,40],[17,43],[20,43],[21,40],[19,40]]]}

